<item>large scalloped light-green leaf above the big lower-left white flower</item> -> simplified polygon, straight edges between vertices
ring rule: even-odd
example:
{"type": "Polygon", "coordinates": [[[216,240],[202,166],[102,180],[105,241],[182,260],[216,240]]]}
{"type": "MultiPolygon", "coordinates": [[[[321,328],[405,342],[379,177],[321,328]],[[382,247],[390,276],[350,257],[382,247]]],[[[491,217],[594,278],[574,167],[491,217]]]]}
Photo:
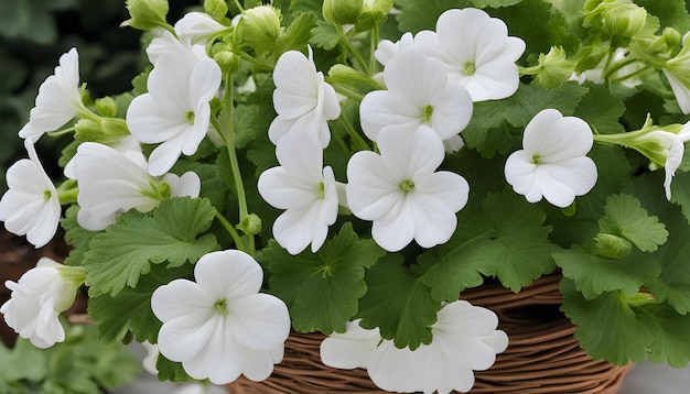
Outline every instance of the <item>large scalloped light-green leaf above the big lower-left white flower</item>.
{"type": "Polygon", "coordinates": [[[91,239],[85,254],[89,295],[117,295],[134,287],[151,264],[169,267],[196,262],[216,249],[216,238],[206,234],[215,216],[207,199],[176,197],[163,200],[151,216],[130,210],[91,239]]]}

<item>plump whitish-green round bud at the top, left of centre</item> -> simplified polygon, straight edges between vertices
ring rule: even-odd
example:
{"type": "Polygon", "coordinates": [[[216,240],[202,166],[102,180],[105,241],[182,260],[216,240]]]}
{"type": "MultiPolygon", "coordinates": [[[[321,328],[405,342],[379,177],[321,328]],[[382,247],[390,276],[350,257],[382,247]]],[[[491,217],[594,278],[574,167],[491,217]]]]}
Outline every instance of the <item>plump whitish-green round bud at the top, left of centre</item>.
{"type": "Polygon", "coordinates": [[[257,54],[270,52],[282,33],[280,10],[271,6],[259,6],[246,10],[236,33],[257,54]]]}

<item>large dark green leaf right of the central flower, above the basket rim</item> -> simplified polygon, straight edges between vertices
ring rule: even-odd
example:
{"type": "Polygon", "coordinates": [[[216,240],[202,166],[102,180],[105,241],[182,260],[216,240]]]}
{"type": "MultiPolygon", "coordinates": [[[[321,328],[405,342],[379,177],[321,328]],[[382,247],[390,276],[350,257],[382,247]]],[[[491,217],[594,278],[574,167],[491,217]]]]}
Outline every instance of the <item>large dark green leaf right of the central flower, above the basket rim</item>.
{"type": "Polygon", "coordinates": [[[518,292],[556,269],[551,254],[560,248],[548,240],[546,215],[509,189],[487,195],[481,209],[465,208],[449,242],[418,259],[420,280],[436,300],[450,302],[465,288],[497,276],[518,292]]]}

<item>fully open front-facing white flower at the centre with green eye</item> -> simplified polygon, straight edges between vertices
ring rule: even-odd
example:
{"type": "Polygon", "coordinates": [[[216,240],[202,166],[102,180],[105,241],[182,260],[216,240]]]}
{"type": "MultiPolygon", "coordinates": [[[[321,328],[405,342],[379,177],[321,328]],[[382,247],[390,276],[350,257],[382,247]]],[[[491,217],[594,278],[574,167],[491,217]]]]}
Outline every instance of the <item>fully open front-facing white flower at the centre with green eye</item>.
{"type": "Polygon", "coordinates": [[[470,186],[455,173],[435,172],[444,158],[439,135],[425,125],[412,133],[386,128],[378,135],[378,147],[380,155],[357,152],[347,164],[349,209],[374,221],[371,237],[389,252],[412,239],[423,248],[446,242],[470,186]]]}

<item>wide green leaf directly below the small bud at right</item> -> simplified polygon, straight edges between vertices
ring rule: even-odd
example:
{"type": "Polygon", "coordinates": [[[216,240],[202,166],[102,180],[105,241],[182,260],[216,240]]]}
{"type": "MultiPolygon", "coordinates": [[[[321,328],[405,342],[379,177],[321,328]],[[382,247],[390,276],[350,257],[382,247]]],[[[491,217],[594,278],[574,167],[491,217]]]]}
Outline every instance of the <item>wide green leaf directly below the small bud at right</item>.
{"type": "Polygon", "coordinates": [[[661,273],[661,265],[643,253],[611,260],[590,254],[580,247],[553,254],[563,276],[575,283],[575,288],[584,298],[592,299],[612,291],[633,295],[647,281],[661,273]]]}

